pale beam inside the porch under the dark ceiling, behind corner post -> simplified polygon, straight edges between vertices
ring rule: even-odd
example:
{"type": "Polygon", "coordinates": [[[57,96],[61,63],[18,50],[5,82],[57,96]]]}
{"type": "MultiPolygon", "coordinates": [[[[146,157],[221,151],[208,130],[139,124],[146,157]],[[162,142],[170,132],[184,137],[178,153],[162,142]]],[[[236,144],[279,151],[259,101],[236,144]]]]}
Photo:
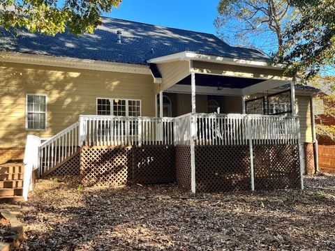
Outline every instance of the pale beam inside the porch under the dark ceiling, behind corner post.
{"type": "MultiPolygon", "coordinates": [[[[174,84],[174,86],[165,90],[167,93],[191,93],[191,86],[186,84],[174,84]]],[[[218,90],[217,87],[195,86],[195,95],[216,95],[216,96],[242,96],[241,89],[223,88],[218,90]]]]}

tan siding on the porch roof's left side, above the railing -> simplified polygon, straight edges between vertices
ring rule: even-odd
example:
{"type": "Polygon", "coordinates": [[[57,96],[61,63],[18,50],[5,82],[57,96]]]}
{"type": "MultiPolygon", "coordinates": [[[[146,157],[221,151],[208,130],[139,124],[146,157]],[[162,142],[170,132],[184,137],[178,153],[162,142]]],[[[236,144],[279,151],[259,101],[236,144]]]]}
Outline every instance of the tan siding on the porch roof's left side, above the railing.
{"type": "Polygon", "coordinates": [[[172,85],[190,75],[188,61],[175,61],[170,63],[159,63],[158,70],[162,75],[161,90],[164,91],[172,85]]]}

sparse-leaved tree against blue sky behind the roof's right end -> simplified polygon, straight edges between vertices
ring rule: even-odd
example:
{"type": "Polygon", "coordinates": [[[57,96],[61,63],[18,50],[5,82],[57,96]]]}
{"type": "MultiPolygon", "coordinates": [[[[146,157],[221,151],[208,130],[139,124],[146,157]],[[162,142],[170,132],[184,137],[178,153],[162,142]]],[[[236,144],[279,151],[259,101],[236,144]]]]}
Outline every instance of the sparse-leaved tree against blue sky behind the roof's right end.
{"type": "Polygon", "coordinates": [[[221,0],[214,24],[233,45],[283,54],[285,28],[296,16],[286,0],[221,0]]]}

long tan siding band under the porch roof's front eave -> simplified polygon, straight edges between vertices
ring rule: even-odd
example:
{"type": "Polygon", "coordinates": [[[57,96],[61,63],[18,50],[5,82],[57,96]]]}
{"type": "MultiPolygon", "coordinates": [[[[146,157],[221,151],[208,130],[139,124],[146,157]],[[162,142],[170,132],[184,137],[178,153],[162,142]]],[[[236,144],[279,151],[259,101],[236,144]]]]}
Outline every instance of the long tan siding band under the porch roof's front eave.
{"type": "Polygon", "coordinates": [[[232,77],[249,77],[260,79],[292,79],[283,77],[283,70],[273,70],[246,66],[232,66],[219,63],[193,61],[194,73],[211,73],[215,75],[228,75],[232,77]]]}

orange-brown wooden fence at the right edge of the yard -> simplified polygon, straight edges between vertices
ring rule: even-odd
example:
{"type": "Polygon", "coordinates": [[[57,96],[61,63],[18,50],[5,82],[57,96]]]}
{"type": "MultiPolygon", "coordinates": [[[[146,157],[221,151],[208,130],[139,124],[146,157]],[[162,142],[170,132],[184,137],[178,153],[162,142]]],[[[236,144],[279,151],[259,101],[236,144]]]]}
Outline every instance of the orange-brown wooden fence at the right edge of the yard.
{"type": "Polygon", "coordinates": [[[320,172],[335,173],[335,146],[318,146],[320,172]]]}

